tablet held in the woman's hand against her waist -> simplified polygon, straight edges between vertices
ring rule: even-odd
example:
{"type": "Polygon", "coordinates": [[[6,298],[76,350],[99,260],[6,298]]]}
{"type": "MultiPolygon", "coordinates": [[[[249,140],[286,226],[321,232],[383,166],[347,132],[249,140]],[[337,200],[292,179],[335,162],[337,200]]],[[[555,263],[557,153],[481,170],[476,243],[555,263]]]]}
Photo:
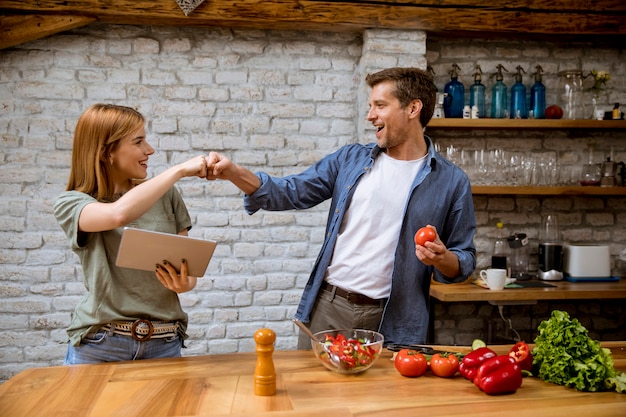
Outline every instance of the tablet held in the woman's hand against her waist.
{"type": "Polygon", "coordinates": [[[180,271],[181,261],[185,259],[188,274],[202,277],[216,246],[213,240],[125,227],[115,265],[154,271],[156,264],[167,260],[180,271]]]}

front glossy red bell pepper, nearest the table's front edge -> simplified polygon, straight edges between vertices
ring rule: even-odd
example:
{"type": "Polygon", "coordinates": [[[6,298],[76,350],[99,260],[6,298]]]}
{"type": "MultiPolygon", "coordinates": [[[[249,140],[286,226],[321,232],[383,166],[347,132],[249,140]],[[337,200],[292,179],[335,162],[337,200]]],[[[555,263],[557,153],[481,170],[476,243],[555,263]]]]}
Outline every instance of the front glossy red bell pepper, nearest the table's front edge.
{"type": "Polygon", "coordinates": [[[509,355],[500,355],[483,363],[474,384],[488,395],[508,394],[522,386],[522,369],[509,355]]]}

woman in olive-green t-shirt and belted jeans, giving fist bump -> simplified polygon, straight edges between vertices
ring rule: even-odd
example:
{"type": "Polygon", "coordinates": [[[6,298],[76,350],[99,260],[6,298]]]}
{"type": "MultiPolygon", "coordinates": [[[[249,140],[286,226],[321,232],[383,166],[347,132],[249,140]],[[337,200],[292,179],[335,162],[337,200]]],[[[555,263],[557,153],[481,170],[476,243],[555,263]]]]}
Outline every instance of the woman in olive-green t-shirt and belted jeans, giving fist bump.
{"type": "Polygon", "coordinates": [[[155,272],[115,266],[124,226],[187,235],[191,219],[174,184],[206,176],[202,156],[144,180],[154,149],[134,109],[95,104],[79,118],[66,191],[54,214],[80,259],[87,294],[68,329],[65,364],[179,357],[187,315],[178,293],[196,277],[182,260],[155,272]],[[155,277],[156,275],[156,277],[155,277]]]}

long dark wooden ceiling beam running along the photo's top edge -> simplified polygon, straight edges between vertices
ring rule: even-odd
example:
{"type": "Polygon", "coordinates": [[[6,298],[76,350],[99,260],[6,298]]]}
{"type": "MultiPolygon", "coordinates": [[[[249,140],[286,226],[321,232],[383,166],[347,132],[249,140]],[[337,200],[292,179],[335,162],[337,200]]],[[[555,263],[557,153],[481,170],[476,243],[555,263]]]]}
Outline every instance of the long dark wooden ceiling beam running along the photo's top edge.
{"type": "MultiPolygon", "coordinates": [[[[63,25],[61,16],[68,18],[66,29],[72,28],[69,21],[75,24],[80,18],[81,22],[91,19],[111,24],[287,30],[626,35],[623,0],[205,0],[188,16],[175,0],[3,0],[0,15],[24,17],[29,25],[25,35],[31,36],[42,21],[49,27],[48,33],[42,30],[42,36],[55,33],[55,26],[63,25]],[[48,15],[56,18],[45,19],[48,15]]],[[[0,23],[4,38],[5,21],[0,23]]],[[[18,40],[20,28],[8,27],[8,33],[18,40]]],[[[0,41],[5,44],[4,39],[0,41]]]]}

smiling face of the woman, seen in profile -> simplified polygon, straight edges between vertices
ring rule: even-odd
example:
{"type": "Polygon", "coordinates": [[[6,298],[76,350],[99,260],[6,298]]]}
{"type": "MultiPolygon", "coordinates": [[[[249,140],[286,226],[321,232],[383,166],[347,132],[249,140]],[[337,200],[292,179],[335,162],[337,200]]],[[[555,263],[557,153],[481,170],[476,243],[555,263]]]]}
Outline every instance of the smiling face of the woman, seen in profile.
{"type": "MultiPolygon", "coordinates": [[[[120,139],[109,155],[113,182],[124,188],[134,178],[143,179],[148,175],[148,157],[154,148],[146,141],[146,130],[142,125],[130,135],[120,139]]],[[[125,189],[115,192],[127,191],[125,189]]]]}

